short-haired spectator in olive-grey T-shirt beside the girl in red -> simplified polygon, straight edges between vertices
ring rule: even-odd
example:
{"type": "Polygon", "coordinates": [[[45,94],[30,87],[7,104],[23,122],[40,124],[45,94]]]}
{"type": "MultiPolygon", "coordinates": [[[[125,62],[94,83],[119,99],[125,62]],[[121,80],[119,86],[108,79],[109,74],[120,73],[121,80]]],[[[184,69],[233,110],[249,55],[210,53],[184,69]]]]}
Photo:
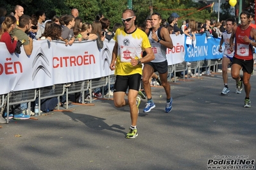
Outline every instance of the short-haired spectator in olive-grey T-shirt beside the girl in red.
{"type": "Polygon", "coordinates": [[[31,17],[28,15],[22,15],[19,17],[19,26],[13,29],[11,36],[17,36],[18,40],[23,43],[23,47],[27,56],[30,56],[33,50],[33,40],[25,33],[30,30],[31,17]]]}

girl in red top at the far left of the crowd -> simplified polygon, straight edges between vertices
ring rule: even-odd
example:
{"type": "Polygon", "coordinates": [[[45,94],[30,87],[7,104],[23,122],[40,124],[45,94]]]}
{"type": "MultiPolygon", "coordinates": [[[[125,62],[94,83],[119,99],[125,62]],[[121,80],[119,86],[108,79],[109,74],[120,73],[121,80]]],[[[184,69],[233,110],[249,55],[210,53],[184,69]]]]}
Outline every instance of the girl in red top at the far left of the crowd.
{"type": "Polygon", "coordinates": [[[16,44],[17,44],[17,36],[12,37],[9,35],[10,32],[16,27],[17,20],[12,15],[7,15],[1,24],[0,30],[0,42],[4,42],[8,51],[12,54],[15,52],[16,44]]]}

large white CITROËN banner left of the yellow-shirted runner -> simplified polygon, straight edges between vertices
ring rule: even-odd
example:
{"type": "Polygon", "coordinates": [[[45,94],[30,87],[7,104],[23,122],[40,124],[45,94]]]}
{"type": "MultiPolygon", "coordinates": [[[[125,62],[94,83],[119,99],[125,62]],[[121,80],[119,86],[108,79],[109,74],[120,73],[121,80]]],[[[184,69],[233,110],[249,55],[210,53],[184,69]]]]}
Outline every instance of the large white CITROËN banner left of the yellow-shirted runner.
{"type": "Polygon", "coordinates": [[[113,47],[114,40],[105,41],[101,50],[96,41],[65,46],[62,42],[40,40],[33,41],[33,52],[26,56],[23,47],[21,54],[10,54],[0,43],[0,95],[113,74],[109,69],[113,47]]]}

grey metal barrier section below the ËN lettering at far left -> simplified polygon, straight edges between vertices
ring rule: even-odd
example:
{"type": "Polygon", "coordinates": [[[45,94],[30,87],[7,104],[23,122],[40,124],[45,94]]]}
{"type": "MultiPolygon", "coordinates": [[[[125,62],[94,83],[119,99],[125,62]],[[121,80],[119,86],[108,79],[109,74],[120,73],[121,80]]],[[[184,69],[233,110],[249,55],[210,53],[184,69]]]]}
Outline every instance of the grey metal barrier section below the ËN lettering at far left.
{"type": "MultiPolygon", "coordinates": [[[[37,89],[27,89],[22,91],[11,91],[7,95],[7,106],[6,106],[6,112],[7,112],[7,120],[6,123],[9,123],[9,110],[10,105],[15,104],[23,104],[28,103],[28,108],[31,107],[31,102],[35,101],[37,98],[37,89]]],[[[30,109],[28,109],[28,114],[30,115],[30,109]]]]}

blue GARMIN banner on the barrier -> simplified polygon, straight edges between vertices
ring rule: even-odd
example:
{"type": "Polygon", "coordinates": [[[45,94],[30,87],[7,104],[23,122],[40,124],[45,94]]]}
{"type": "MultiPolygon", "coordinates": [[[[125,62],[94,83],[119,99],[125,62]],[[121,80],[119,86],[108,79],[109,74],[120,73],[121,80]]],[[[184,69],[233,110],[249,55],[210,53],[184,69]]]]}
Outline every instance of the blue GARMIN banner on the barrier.
{"type": "Polygon", "coordinates": [[[196,44],[185,44],[185,61],[200,61],[205,59],[222,58],[223,52],[219,52],[220,38],[206,34],[196,34],[196,44]]]}

